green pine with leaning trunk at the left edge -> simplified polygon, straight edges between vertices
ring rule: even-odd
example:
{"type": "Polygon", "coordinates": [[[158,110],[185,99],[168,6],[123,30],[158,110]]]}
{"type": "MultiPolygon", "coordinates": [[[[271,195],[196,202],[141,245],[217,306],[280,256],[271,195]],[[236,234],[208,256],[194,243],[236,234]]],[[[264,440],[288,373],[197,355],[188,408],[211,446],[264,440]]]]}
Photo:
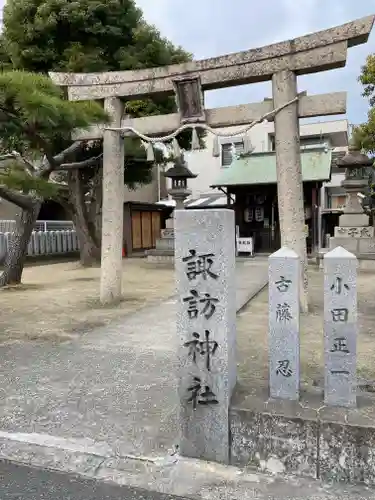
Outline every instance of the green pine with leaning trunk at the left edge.
{"type": "Polygon", "coordinates": [[[65,100],[61,89],[47,76],[22,71],[0,73],[0,196],[21,209],[0,286],[21,281],[41,204],[59,191],[53,174],[85,169],[98,161],[89,155],[79,163],[74,160],[87,148],[84,142],[71,143],[56,154],[57,140],[67,139],[76,128],[86,129],[108,120],[97,103],[65,100]]]}

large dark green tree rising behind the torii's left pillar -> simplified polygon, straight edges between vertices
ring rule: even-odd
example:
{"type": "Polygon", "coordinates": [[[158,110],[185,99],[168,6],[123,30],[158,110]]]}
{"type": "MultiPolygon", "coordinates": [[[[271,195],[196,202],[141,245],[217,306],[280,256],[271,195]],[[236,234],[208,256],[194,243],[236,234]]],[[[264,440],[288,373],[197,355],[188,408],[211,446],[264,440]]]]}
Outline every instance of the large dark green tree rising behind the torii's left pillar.
{"type": "MultiPolygon", "coordinates": [[[[2,47],[4,65],[11,61],[14,68],[42,73],[141,69],[191,59],[144,21],[133,0],[8,0],[0,57],[2,47]]],[[[175,100],[168,96],[126,105],[130,117],[174,111],[175,100]]],[[[188,147],[190,135],[181,134],[179,142],[188,147]]],[[[61,146],[57,138],[57,149],[61,146]]],[[[90,148],[79,160],[100,158],[101,142],[90,148]]],[[[150,182],[154,164],[146,162],[140,141],[129,139],[125,150],[124,183],[135,188],[150,182]]],[[[156,160],[167,158],[157,151],[156,160]]],[[[65,178],[69,190],[60,197],[78,231],[81,261],[88,265],[100,255],[101,179],[101,159],[91,168],[71,170],[65,178]]]]}

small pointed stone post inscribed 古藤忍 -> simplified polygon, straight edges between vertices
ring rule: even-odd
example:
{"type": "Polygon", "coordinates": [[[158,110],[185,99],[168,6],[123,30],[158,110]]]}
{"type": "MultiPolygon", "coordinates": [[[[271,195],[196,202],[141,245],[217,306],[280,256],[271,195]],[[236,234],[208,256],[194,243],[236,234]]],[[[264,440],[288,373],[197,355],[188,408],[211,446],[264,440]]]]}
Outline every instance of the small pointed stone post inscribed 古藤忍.
{"type": "Polygon", "coordinates": [[[270,397],[298,400],[301,260],[282,247],[269,257],[270,397]]]}

